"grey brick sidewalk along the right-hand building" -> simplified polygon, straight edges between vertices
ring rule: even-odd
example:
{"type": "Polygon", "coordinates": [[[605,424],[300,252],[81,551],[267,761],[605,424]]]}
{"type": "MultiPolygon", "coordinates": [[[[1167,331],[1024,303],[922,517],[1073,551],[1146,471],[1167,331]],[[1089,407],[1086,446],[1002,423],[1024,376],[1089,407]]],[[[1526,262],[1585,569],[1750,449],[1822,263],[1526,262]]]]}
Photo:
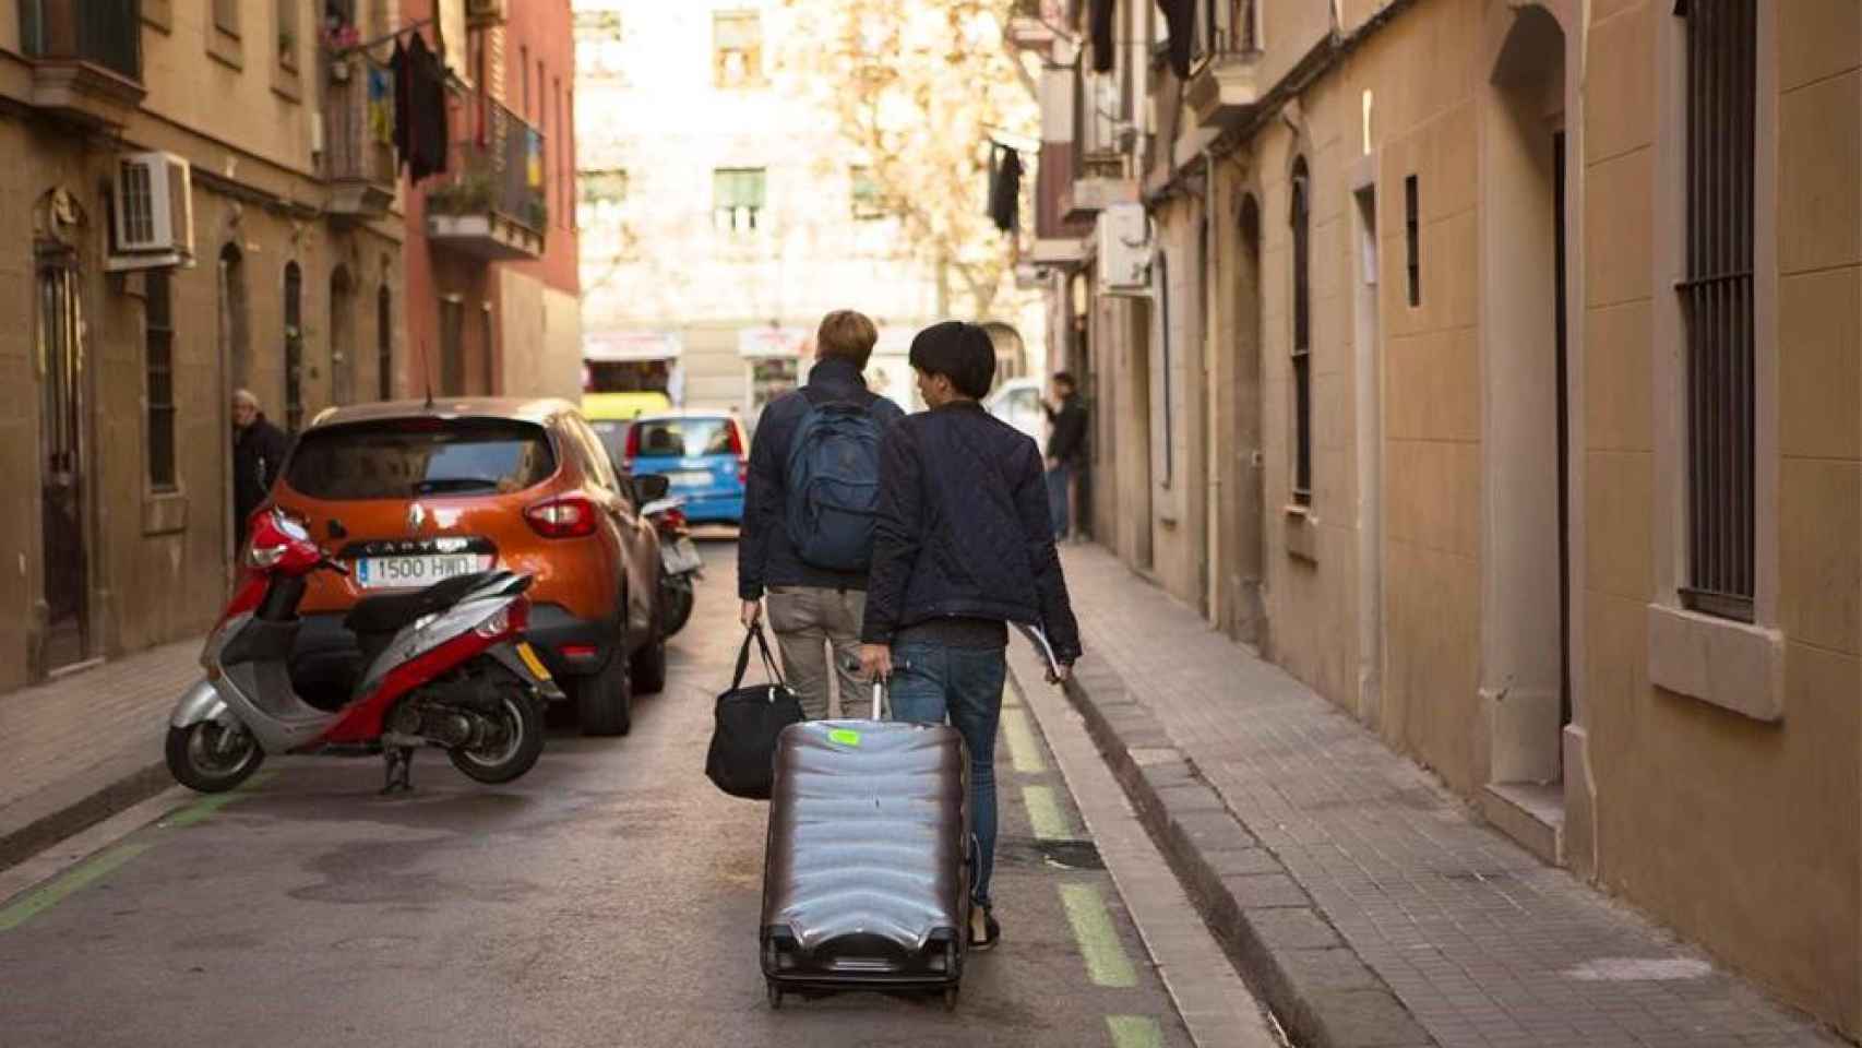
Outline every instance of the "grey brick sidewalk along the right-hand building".
{"type": "MultiPolygon", "coordinates": [[[[1220,819],[1212,812],[1153,812],[1169,826],[1153,830],[1179,851],[1233,849],[1173,856],[1179,873],[1182,862],[1214,871],[1203,884],[1214,892],[1201,892],[1212,923],[1261,925],[1236,929],[1242,946],[1231,936],[1231,953],[1272,953],[1270,910],[1305,907],[1329,925],[1315,931],[1335,933],[1376,975],[1370,988],[1354,983],[1350,1000],[1387,1001],[1387,990],[1434,1042],[1454,1048],[1842,1044],[1478,823],[1423,769],[1104,549],[1069,547],[1065,564],[1087,652],[1073,694],[1108,758],[1123,761],[1140,810],[1197,808],[1195,795],[1207,797],[1167,778],[1181,752],[1240,821],[1242,832],[1218,825],[1210,836],[1197,826],[1220,819]],[[1207,843],[1223,832],[1233,843],[1207,843]],[[1264,866],[1225,877],[1246,853],[1264,866]]],[[[1289,981],[1285,959],[1262,964],[1268,981],[1289,981]]],[[[1290,968],[1290,981],[1305,975],[1290,968]]],[[[1318,1005],[1298,992],[1281,1005],[1346,1000],[1326,988],[1318,1005]]],[[[1415,1042],[1389,1029],[1382,1041],[1328,1033],[1322,1020],[1316,1042],[1415,1042]]],[[[1363,1024],[1331,1024],[1354,1026],[1363,1024]]]]}

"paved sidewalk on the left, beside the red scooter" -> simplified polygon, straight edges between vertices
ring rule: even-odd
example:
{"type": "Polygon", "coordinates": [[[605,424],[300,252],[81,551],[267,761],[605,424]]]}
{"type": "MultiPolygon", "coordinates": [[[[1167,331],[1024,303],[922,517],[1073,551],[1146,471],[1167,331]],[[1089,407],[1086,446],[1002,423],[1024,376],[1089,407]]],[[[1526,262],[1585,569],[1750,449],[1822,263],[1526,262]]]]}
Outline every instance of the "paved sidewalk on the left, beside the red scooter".
{"type": "Polygon", "coordinates": [[[0,869],[173,784],[168,713],[199,655],[182,640],[0,694],[0,869]]]}

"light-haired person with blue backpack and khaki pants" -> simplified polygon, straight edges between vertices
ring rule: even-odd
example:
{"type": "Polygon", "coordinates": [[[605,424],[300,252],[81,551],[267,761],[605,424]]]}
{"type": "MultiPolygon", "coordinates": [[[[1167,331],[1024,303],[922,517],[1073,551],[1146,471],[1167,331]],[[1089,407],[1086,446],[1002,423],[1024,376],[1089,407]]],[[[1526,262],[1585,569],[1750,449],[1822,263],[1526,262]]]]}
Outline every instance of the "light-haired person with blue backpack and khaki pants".
{"type": "Polygon", "coordinates": [[[821,363],[804,387],[763,408],[750,443],[737,538],[741,618],[756,625],[767,594],[782,672],[810,719],[830,711],[830,648],[842,700],[858,689],[851,665],[873,557],[879,443],[905,415],[866,387],[877,341],[864,315],[829,313],[816,333],[821,363]]]}

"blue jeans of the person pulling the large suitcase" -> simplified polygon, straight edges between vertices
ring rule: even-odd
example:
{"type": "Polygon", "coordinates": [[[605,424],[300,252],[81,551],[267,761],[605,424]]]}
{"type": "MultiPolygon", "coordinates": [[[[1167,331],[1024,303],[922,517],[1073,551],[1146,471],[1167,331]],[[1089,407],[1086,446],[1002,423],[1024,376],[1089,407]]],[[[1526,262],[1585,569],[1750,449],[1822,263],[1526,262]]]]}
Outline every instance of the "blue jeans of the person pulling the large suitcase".
{"type": "Polygon", "coordinates": [[[970,828],[976,882],[970,897],[989,905],[996,867],[996,722],[1009,665],[1002,648],[905,642],[892,650],[892,719],[950,726],[970,748],[970,828]]]}

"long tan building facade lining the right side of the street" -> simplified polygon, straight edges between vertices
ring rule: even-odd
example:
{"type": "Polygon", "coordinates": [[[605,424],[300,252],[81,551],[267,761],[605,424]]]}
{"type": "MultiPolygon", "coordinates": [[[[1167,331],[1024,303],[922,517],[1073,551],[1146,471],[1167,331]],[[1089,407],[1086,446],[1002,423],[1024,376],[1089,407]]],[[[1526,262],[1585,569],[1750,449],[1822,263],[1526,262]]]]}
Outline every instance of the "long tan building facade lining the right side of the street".
{"type": "Polygon", "coordinates": [[[1855,1037],[1855,4],[1097,0],[1013,32],[1050,60],[1035,261],[1091,534],[1855,1037]]]}

